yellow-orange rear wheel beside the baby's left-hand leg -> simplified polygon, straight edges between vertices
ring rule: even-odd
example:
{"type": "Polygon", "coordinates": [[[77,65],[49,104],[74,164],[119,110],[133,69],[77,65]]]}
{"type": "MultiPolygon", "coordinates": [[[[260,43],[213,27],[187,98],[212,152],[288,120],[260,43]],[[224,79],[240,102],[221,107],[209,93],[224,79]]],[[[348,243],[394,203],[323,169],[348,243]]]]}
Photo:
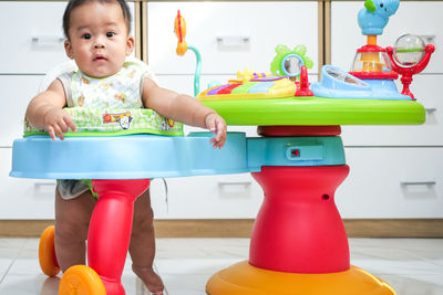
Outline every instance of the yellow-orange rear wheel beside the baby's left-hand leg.
{"type": "Polygon", "coordinates": [[[40,268],[48,276],[60,273],[59,263],[54,250],[54,225],[48,226],[40,236],[39,262],[40,268]]]}

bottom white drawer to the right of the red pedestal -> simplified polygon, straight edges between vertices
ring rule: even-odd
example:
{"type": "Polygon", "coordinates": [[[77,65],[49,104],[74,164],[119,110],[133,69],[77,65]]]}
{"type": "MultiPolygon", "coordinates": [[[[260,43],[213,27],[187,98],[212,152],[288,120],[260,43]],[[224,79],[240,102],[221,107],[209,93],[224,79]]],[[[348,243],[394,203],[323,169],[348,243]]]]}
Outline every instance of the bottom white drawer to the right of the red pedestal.
{"type": "Polygon", "coordinates": [[[443,218],[443,148],[346,148],[343,218],[443,218]]]}

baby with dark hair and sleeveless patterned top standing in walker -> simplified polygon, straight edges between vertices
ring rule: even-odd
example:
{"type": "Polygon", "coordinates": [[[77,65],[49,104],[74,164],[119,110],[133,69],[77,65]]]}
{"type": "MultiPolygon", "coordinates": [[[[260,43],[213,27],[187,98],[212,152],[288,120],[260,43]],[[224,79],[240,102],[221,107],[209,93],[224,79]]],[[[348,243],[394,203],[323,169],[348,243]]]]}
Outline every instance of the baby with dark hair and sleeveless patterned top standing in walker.
{"type": "MultiPolygon", "coordinates": [[[[145,107],[164,117],[209,129],[215,134],[210,144],[222,148],[226,123],[215,110],[190,96],[159,87],[140,65],[125,62],[134,48],[130,25],[131,13],[124,0],[71,0],[63,15],[64,49],[79,70],[61,75],[30,102],[29,123],[45,129],[53,140],[56,137],[63,140],[64,133],[76,129],[63,109],[65,106],[145,107]]],[[[54,243],[63,272],[72,265],[85,264],[85,240],[94,204],[86,183],[58,180],[54,243]]],[[[153,271],[155,238],[148,191],[135,202],[130,254],[134,273],[150,292],[163,294],[163,282],[153,271]]]]}

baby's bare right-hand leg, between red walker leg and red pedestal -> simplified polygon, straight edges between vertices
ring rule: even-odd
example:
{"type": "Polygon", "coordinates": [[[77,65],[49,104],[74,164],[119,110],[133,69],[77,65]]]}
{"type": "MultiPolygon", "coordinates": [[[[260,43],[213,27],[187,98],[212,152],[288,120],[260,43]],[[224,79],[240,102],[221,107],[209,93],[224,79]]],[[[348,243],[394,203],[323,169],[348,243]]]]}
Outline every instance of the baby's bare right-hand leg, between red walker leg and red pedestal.
{"type": "Polygon", "coordinates": [[[153,222],[154,214],[151,209],[150,190],[146,190],[135,201],[130,254],[134,273],[143,281],[150,292],[161,295],[164,285],[162,278],[153,270],[155,256],[153,222]]]}

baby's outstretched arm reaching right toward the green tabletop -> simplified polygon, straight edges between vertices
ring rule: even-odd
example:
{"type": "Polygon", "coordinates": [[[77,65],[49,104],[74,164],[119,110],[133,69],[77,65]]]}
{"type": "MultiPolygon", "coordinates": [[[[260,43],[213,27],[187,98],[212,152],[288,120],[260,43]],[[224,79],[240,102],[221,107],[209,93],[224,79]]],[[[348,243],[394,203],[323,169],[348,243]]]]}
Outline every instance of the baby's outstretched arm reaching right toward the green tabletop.
{"type": "Polygon", "coordinates": [[[143,104],[164,117],[181,123],[207,128],[215,134],[210,139],[214,148],[222,148],[226,141],[226,123],[214,109],[184,94],[158,87],[146,77],[143,84],[143,104]]]}

